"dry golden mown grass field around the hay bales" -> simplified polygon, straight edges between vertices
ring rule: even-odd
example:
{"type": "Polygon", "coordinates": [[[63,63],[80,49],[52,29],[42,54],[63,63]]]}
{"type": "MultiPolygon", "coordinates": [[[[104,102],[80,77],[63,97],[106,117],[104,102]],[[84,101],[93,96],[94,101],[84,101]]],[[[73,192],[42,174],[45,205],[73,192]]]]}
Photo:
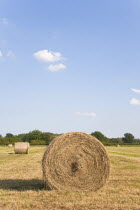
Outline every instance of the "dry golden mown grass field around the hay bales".
{"type": "Polygon", "coordinates": [[[21,209],[140,209],[140,147],[107,147],[110,180],[97,193],[45,191],[41,159],[44,146],[29,155],[0,147],[0,210],[21,209]]]}

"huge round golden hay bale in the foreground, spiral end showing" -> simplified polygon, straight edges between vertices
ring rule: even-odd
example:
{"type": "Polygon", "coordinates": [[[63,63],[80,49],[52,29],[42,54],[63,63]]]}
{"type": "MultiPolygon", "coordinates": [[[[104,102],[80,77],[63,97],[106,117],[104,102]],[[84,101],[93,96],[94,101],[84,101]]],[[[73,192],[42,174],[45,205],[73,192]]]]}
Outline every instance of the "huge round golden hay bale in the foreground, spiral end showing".
{"type": "Polygon", "coordinates": [[[81,132],[56,137],[44,153],[42,166],[45,187],[65,191],[97,191],[110,171],[102,143],[81,132]]]}

